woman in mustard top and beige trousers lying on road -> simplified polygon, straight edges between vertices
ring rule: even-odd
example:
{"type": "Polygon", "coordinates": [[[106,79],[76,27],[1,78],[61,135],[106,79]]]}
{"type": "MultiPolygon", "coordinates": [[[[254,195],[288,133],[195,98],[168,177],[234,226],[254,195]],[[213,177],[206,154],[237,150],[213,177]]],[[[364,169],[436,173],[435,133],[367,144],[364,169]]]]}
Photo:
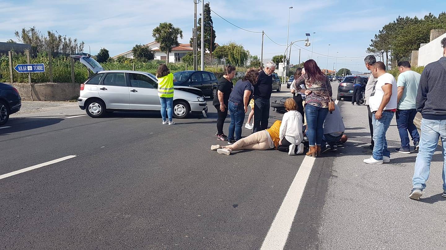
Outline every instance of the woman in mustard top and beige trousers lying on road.
{"type": "Polygon", "coordinates": [[[277,149],[280,141],[279,131],[281,123],[281,121],[275,121],[271,128],[253,133],[229,146],[212,145],[211,150],[217,150],[217,153],[230,155],[232,150],[277,149]]]}

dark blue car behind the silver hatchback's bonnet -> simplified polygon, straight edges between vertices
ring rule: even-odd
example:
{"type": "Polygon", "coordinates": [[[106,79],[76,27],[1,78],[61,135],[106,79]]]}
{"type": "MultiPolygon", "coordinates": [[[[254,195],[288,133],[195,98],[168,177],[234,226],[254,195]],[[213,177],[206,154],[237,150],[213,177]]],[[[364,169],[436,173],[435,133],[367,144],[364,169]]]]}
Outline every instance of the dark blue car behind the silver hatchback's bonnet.
{"type": "Polygon", "coordinates": [[[205,97],[214,97],[217,94],[217,77],[214,73],[207,71],[179,71],[173,73],[175,86],[187,86],[201,89],[205,97]]]}

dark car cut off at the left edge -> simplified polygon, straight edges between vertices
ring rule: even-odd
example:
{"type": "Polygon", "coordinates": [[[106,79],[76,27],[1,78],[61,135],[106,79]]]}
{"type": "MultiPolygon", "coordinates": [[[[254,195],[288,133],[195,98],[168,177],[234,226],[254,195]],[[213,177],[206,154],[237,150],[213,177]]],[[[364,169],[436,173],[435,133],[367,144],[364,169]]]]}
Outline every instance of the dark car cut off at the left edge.
{"type": "Polygon", "coordinates": [[[16,88],[0,82],[0,126],[4,125],[9,115],[16,113],[22,106],[22,98],[16,88]]]}

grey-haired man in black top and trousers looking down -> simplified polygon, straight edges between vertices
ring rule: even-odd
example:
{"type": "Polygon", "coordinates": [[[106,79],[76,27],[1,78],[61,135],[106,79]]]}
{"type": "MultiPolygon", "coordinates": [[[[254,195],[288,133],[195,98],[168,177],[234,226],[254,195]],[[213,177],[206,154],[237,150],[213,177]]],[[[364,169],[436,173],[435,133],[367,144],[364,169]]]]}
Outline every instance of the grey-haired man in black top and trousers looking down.
{"type": "Polygon", "coordinates": [[[259,72],[257,84],[254,85],[254,128],[252,133],[256,133],[268,128],[269,118],[269,98],[273,91],[273,72],[276,64],[269,61],[264,64],[264,69],[259,72]]]}

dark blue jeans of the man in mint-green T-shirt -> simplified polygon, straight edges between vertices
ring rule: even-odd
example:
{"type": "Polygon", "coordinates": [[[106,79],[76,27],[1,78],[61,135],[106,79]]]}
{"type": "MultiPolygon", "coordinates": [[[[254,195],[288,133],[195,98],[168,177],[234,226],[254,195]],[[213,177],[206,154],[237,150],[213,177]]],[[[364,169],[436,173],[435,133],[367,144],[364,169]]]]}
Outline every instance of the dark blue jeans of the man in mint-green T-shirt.
{"type": "Polygon", "coordinates": [[[401,147],[410,150],[410,140],[407,132],[409,132],[412,141],[420,141],[417,127],[413,124],[413,119],[417,114],[417,109],[396,110],[396,124],[398,125],[398,132],[401,138],[401,147]]]}

